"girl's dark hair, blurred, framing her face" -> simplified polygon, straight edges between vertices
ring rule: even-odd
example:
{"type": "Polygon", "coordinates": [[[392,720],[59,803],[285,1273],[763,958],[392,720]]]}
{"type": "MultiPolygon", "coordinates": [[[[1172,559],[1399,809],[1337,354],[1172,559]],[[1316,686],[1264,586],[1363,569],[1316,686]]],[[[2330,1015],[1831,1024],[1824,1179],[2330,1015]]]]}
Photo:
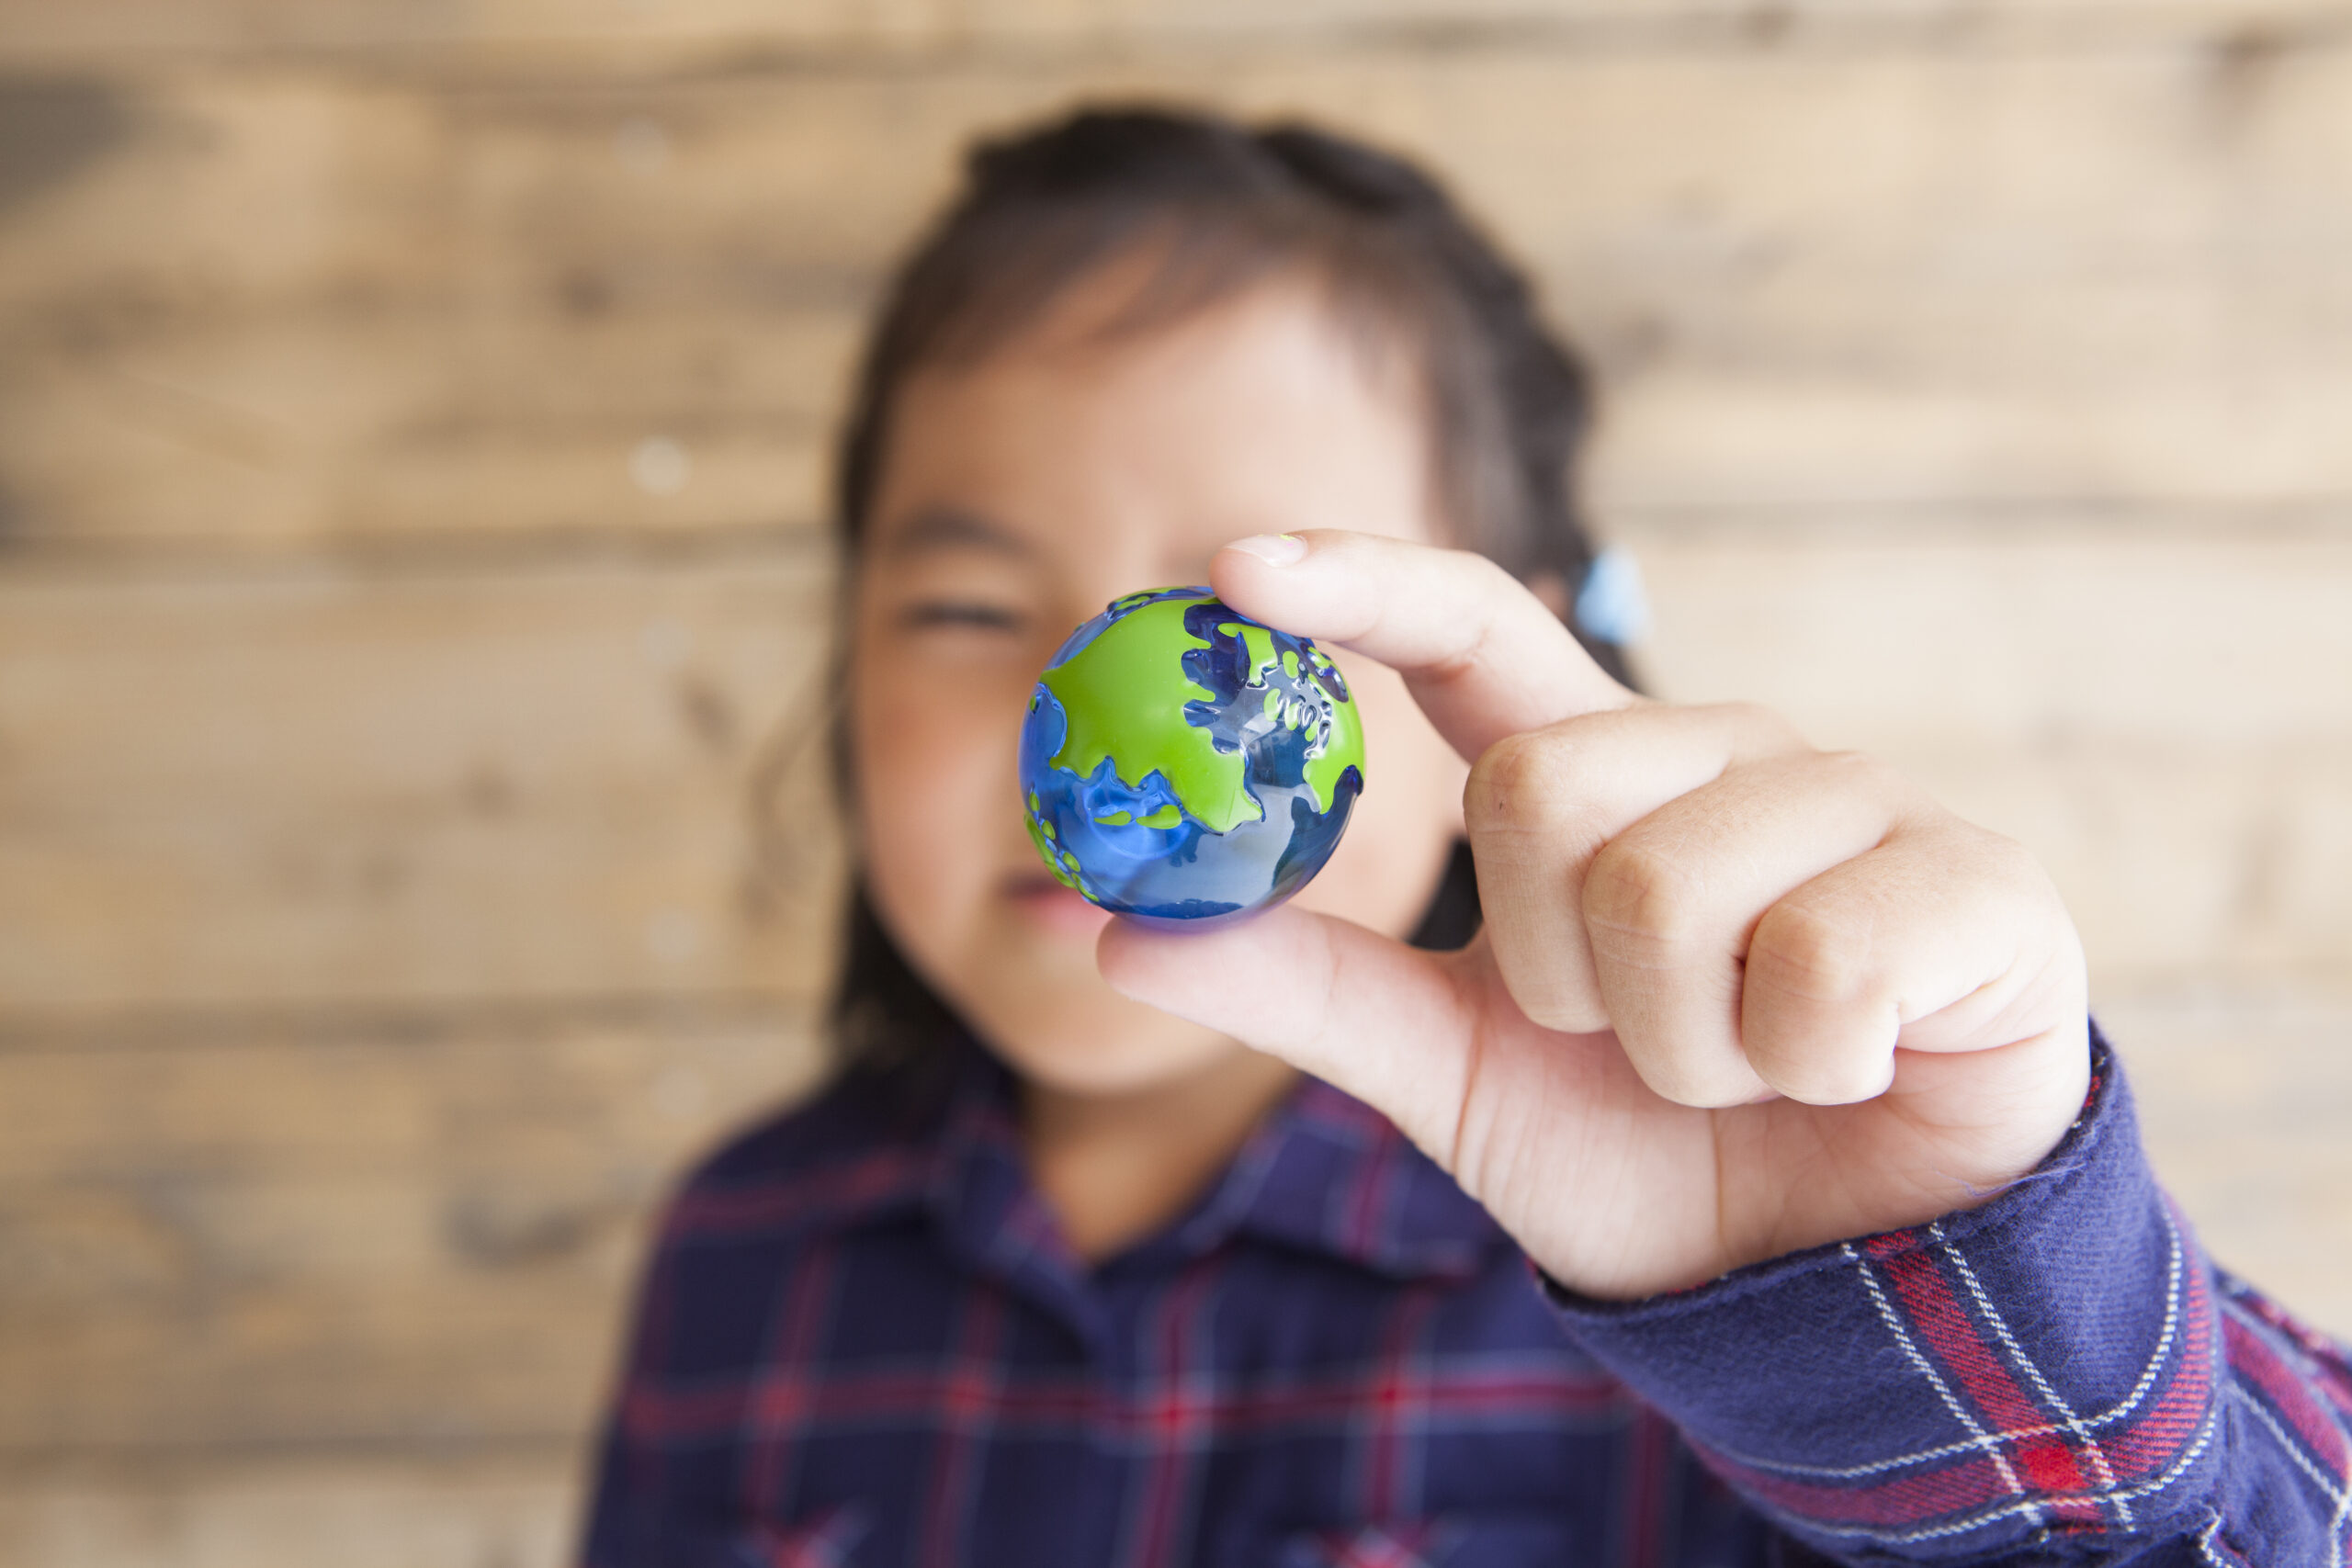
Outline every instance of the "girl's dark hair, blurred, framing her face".
{"type": "MultiPolygon", "coordinates": [[[[1091,108],[974,146],[962,193],[898,270],[858,367],[835,470],[844,581],[908,374],[985,357],[1112,263],[1141,263],[1143,277],[1103,331],[1178,320],[1272,277],[1319,284],[1359,341],[1402,348],[1418,371],[1454,541],[1522,581],[1550,576],[1562,595],[1585,581],[1592,545],[1576,461],[1592,388],[1519,270],[1392,153],[1305,125],[1251,129],[1167,108],[1091,108]]],[[[1621,649],[1566,618],[1625,679],[1621,649]]],[[[847,675],[840,654],[835,675],[847,675]]],[[[840,724],[833,755],[849,799],[840,724]]],[[[1475,931],[1463,846],[1414,940],[1458,947],[1475,931]]],[[[856,875],[844,936],[830,1006],[844,1058],[882,1067],[929,1056],[955,1016],[898,952],[856,875]]]]}

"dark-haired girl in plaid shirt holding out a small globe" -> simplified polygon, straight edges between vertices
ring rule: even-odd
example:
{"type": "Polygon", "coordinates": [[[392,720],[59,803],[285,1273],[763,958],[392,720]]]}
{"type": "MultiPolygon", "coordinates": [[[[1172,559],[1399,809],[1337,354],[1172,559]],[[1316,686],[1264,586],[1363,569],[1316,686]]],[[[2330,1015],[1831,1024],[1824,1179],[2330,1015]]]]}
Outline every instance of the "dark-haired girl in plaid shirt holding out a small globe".
{"type": "Polygon", "coordinates": [[[2039,867],[1564,625],[1585,411],[1392,158],[974,155],[842,447],[844,1070],[670,1208],[590,1563],[2340,1561],[2352,1373],[2152,1185],[2039,867]],[[1202,581],[1367,792],[1171,936],[1014,755],[1202,581]]]}

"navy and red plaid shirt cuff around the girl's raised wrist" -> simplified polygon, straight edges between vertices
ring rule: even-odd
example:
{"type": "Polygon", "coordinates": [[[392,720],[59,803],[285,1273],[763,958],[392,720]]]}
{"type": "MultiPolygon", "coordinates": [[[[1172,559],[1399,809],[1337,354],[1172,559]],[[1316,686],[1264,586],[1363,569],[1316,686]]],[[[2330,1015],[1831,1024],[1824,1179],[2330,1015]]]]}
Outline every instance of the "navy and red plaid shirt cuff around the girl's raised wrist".
{"type": "Polygon", "coordinates": [[[1842,1561],[2140,1533],[2213,1483],[2211,1286],[2096,1025],[2084,1112],[1978,1208],[1635,1302],[1545,1291],[1712,1469],[1842,1561]]]}

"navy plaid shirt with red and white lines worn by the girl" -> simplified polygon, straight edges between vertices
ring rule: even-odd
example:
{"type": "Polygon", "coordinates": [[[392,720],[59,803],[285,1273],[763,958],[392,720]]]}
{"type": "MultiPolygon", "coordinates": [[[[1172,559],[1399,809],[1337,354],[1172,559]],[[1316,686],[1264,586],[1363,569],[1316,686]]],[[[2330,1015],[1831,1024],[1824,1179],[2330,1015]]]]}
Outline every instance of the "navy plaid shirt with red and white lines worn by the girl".
{"type": "Polygon", "coordinates": [[[1322,1084],[1091,1269],[981,1051],[922,1114],[837,1086],[673,1204],[586,1561],[2336,1568],[2352,1371],[2206,1262],[2096,1051],[1990,1204],[1632,1305],[1322,1084]]]}

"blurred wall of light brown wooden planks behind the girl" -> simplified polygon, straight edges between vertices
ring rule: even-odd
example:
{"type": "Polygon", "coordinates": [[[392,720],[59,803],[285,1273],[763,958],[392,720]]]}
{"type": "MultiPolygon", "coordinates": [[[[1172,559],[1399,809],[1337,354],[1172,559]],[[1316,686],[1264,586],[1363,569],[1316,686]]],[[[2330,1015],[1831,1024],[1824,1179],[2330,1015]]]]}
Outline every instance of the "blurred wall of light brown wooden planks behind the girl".
{"type": "Polygon", "coordinates": [[[821,1070],[861,317],[1105,94],[1449,174],[1656,689],[2039,851],[2352,1331],[2352,5],[0,0],[0,1563],[562,1559],[649,1204],[821,1070]]]}

